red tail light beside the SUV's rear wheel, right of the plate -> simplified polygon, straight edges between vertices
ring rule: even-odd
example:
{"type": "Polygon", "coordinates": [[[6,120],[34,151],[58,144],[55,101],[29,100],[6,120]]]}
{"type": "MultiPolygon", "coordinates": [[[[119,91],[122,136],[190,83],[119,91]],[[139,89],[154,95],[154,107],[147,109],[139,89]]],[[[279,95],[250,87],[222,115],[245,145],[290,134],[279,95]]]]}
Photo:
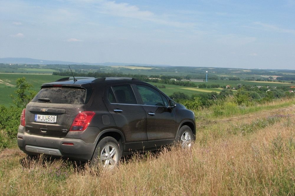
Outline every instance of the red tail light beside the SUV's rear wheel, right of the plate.
{"type": "Polygon", "coordinates": [[[83,130],[85,130],[88,127],[94,114],[95,113],[91,112],[91,111],[85,111],[85,112],[78,113],[75,120],[73,121],[70,131],[83,131],[83,130]]]}

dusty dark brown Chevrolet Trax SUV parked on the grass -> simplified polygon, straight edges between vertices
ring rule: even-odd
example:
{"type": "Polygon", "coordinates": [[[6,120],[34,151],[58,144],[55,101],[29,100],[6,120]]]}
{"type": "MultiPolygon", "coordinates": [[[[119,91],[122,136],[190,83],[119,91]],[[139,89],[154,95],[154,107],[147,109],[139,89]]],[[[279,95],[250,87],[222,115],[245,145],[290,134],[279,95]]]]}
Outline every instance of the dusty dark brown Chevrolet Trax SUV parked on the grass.
{"type": "Polygon", "coordinates": [[[181,142],[196,133],[194,113],[134,78],[62,78],[45,83],[21,115],[28,155],[91,160],[112,168],[121,156],[181,142]]]}

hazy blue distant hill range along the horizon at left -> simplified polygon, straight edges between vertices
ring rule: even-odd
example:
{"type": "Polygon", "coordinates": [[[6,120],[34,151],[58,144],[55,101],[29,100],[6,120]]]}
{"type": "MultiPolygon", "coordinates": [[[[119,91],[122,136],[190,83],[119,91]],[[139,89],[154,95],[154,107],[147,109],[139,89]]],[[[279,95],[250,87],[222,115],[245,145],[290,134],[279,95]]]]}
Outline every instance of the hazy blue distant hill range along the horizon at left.
{"type": "Polygon", "coordinates": [[[34,58],[0,58],[0,63],[12,63],[12,64],[38,64],[38,65],[102,65],[102,66],[170,66],[170,65],[152,65],[152,64],[140,64],[140,63],[77,63],[70,61],[48,61],[34,58]]]}

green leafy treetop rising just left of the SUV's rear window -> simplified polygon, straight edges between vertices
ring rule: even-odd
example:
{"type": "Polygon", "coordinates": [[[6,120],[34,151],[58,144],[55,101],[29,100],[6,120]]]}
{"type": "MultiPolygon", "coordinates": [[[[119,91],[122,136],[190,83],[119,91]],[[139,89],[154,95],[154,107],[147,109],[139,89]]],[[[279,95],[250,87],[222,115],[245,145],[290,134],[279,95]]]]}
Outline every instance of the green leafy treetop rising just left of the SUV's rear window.
{"type": "Polygon", "coordinates": [[[28,83],[25,77],[17,78],[16,83],[18,89],[14,91],[15,95],[10,95],[10,97],[17,107],[24,108],[35,97],[37,92],[32,90],[33,85],[28,83]]]}

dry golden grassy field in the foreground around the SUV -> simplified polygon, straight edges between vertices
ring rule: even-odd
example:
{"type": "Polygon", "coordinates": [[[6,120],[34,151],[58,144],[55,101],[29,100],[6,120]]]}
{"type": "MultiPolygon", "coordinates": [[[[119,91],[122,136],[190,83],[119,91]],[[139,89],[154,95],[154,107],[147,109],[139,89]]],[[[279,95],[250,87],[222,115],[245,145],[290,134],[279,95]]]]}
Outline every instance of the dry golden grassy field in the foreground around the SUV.
{"type": "Polygon", "coordinates": [[[0,192],[3,195],[294,195],[294,100],[268,103],[255,112],[247,111],[230,117],[199,118],[196,142],[190,149],[175,147],[135,155],[112,171],[77,166],[65,160],[29,161],[14,145],[0,153],[0,192]]]}

